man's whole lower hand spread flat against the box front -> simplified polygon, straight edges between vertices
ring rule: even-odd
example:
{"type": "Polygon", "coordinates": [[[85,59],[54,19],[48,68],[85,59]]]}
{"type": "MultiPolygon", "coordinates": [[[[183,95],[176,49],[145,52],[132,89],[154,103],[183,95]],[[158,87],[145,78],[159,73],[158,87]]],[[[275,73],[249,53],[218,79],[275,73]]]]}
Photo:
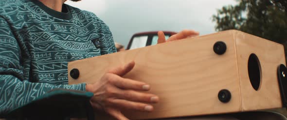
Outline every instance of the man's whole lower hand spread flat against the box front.
{"type": "Polygon", "coordinates": [[[135,65],[132,61],[124,67],[118,67],[108,71],[100,81],[87,85],[86,90],[93,92],[90,103],[94,109],[103,110],[118,120],[128,120],[121,109],[151,112],[152,105],[145,103],[157,103],[159,97],[154,94],[143,93],[150,86],[146,83],[123,78],[135,65]]]}

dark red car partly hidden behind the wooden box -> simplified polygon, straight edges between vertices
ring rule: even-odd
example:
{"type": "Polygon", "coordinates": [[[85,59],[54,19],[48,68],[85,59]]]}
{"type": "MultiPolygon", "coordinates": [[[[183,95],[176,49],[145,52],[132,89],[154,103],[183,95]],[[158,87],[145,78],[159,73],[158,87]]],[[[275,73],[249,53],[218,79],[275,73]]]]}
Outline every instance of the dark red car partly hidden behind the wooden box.
{"type": "MultiPolygon", "coordinates": [[[[163,33],[165,35],[165,39],[177,34],[177,32],[173,31],[163,31],[163,33]]],[[[148,45],[156,45],[158,43],[158,38],[158,31],[136,33],[131,37],[126,50],[136,49],[148,45]]]]}

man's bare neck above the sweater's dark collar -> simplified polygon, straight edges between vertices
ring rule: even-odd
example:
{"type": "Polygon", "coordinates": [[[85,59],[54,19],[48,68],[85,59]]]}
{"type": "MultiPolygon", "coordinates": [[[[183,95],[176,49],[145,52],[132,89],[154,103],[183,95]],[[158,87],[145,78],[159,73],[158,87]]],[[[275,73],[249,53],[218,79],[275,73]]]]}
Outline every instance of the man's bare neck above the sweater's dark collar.
{"type": "Polygon", "coordinates": [[[39,1],[55,11],[62,12],[62,5],[66,0],[39,0],[39,1]]]}

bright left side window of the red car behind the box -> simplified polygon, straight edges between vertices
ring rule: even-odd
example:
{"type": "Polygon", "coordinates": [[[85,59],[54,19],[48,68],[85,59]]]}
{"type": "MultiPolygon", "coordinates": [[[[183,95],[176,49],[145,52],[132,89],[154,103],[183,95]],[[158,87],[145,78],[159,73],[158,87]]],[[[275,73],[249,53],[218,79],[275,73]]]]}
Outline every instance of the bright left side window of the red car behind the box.
{"type": "Polygon", "coordinates": [[[136,36],[133,38],[130,49],[144,47],[146,45],[148,36],[136,36]]]}

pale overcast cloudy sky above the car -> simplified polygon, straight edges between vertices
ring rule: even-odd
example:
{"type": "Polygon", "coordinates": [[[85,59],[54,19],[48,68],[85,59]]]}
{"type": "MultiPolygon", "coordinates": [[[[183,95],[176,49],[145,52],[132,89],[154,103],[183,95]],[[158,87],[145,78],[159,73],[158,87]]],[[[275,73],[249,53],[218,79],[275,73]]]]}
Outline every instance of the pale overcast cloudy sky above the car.
{"type": "Polygon", "coordinates": [[[100,17],[114,41],[126,45],[137,32],[192,29],[200,35],[215,32],[212,15],[234,0],[82,0],[66,2],[100,17]]]}

